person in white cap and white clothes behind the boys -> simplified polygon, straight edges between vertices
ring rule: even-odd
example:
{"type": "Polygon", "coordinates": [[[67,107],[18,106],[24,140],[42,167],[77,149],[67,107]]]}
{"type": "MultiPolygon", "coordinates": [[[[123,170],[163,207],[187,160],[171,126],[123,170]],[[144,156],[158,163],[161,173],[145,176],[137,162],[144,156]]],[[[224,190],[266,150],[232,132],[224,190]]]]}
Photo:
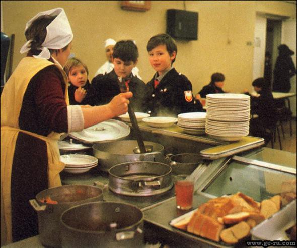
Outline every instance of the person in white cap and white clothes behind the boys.
{"type": "MultiPolygon", "coordinates": [[[[113,70],[114,64],[113,64],[112,53],[113,53],[113,48],[115,44],[116,44],[116,41],[111,38],[108,38],[107,40],[104,41],[104,49],[105,49],[107,61],[96,71],[94,77],[96,77],[99,74],[109,73],[113,70]]],[[[141,77],[139,76],[139,69],[136,66],[133,67],[132,73],[134,76],[137,76],[140,80],[142,80],[141,77]]]]}

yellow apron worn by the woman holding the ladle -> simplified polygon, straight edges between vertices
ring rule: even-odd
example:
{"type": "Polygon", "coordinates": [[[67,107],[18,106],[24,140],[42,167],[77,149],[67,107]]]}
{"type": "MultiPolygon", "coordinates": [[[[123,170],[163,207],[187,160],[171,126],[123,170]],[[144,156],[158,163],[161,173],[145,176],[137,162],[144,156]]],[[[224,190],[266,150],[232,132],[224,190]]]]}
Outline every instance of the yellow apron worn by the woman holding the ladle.
{"type": "MultiPolygon", "coordinates": [[[[65,164],[60,162],[58,139],[61,134],[51,132],[47,137],[20,130],[19,115],[27,86],[34,75],[47,66],[55,65],[44,59],[25,57],[21,60],[1,95],[1,246],[12,242],[11,173],[16,140],[19,132],[46,142],[48,156],[48,187],[61,185],[59,173],[65,164]],[[7,109],[10,111],[8,112],[7,109]]],[[[56,65],[65,82],[65,101],[68,100],[68,79],[63,69],[56,65]]]]}

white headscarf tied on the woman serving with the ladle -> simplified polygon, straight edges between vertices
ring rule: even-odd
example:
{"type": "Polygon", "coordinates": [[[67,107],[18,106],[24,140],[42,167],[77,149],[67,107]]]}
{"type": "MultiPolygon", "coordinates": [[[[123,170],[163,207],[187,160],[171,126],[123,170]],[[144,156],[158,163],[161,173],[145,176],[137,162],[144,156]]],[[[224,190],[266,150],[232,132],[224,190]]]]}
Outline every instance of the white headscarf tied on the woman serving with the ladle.
{"type": "MultiPolygon", "coordinates": [[[[33,21],[43,15],[57,16],[47,27],[46,37],[40,47],[40,54],[33,55],[35,58],[49,59],[50,52],[48,49],[61,49],[67,46],[73,39],[72,30],[65,14],[64,9],[56,8],[49,11],[39,12],[26,24],[25,32],[33,21]]],[[[28,47],[32,40],[27,41],[20,50],[20,53],[26,53],[31,48],[28,47]]]]}

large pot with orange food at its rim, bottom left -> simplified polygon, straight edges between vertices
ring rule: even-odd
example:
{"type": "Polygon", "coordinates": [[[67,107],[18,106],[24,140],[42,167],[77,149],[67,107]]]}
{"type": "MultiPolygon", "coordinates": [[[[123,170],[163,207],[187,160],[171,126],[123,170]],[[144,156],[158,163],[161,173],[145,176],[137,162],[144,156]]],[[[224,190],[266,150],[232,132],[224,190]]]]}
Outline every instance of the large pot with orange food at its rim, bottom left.
{"type": "Polygon", "coordinates": [[[30,200],[38,214],[39,239],[45,246],[60,247],[60,216],[68,208],[103,200],[103,190],[89,185],[65,185],[46,189],[30,200]],[[45,203],[50,197],[57,204],[45,203]]]}

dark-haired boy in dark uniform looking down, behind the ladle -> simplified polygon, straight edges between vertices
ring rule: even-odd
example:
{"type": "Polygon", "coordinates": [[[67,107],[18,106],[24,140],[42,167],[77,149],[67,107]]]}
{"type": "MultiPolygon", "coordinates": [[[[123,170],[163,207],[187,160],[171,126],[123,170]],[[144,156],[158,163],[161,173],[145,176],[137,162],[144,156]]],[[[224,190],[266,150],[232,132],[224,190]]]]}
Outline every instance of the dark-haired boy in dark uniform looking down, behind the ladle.
{"type": "Polygon", "coordinates": [[[132,74],[138,59],[137,46],[131,40],[118,41],[113,49],[114,69],[104,75],[99,74],[92,80],[95,89],[95,105],[104,105],[121,93],[124,85],[133,93],[130,104],[135,112],[143,112],[142,102],[145,94],[145,83],[132,74]]]}

